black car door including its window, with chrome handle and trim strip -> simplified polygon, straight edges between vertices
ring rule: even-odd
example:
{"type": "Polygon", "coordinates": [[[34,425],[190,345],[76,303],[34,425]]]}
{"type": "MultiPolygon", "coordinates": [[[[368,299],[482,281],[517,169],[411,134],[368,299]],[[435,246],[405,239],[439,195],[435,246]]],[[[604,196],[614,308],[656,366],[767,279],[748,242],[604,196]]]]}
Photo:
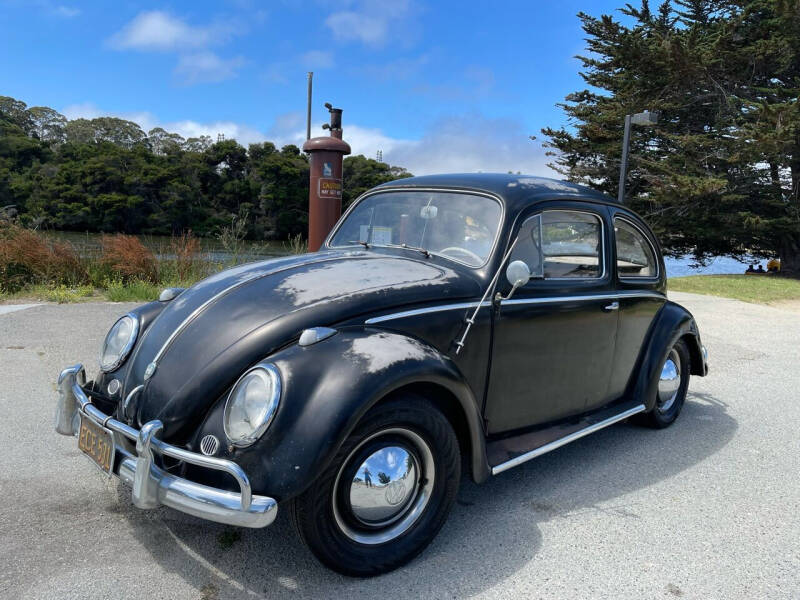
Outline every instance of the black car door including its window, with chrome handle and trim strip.
{"type": "MultiPolygon", "coordinates": [[[[577,415],[608,396],[619,303],[605,207],[571,203],[523,221],[507,264],[532,278],[495,315],[486,401],[490,434],[577,415]]],[[[511,286],[501,275],[498,290],[511,286]]]]}

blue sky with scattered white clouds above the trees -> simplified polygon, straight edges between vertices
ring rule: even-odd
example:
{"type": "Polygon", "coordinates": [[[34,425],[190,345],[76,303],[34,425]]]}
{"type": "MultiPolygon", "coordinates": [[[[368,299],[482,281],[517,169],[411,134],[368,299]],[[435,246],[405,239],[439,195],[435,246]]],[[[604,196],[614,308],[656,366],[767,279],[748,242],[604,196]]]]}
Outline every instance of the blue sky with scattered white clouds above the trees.
{"type": "Polygon", "coordinates": [[[564,124],[555,104],[584,87],[575,15],[620,5],[0,0],[0,94],[70,118],[300,143],[311,70],[312,135],[329,101],[355,153],[415,173],[552,175],[539,130],[564,124]]]}

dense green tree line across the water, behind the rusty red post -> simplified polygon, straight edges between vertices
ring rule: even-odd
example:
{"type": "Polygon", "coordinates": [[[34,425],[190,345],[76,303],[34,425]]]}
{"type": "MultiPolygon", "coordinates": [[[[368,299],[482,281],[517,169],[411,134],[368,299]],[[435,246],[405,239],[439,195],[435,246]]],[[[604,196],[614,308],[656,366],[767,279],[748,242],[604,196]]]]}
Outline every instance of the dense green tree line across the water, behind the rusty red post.
{"type": "MultiPolygon", "coordinates": [[[[0,96],[0,210],[29,226],[214,235],[246,215],[257,239],[305,235],[308,158],[297,146],[183,139],[113,117],[67,120],[0,96]]],[[[347,157],[345,202],[404,169],[347,157]]]]}

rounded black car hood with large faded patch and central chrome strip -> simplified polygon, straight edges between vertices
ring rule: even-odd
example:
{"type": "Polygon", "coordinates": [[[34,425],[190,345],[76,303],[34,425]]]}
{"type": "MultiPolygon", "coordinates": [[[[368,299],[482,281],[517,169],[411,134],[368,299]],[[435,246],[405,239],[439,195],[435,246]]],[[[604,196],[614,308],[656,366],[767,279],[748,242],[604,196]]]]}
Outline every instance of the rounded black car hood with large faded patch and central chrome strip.
{"type": "Polygon", "coordinates": [[[377,252],[325,251],[242,265],[164,307],[137,344],[125,393],[144,384],[139,425],[160,419],[165,436],[188,436],[247,367],[306,327],[479,294],[467,270],[377,252]]]}

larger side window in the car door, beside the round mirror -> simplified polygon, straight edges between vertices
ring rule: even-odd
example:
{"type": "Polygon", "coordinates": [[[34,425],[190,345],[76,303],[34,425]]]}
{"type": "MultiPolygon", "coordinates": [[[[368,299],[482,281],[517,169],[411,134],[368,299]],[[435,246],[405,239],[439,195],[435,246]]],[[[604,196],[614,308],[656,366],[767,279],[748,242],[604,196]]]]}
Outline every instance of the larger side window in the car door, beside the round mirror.
{"type": "Polygon", "coordinates": [[[569,210],[546,210],[520,227],[510,260],[522,260],[533,276],[593,278],[603,273],[600,217],[569,210]]]}

